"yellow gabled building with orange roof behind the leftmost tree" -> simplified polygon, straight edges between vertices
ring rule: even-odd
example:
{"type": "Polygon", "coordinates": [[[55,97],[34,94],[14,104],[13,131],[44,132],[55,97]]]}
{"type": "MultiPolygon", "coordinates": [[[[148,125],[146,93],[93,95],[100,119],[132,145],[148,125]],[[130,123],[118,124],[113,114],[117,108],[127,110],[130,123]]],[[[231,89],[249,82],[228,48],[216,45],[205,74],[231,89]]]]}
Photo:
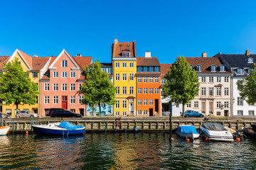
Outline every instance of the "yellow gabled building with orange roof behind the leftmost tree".
{"type": "MultiPolygon", "coordinates": [[[[29,73],[29,77],[33,82],[38,84],[38,91],[41,89],[40,85],[40,79],[43,76],[44,72],[46,71],[47,64],[49,63],[50,57],[37,57],[36,55],[34,57],[31,57],[29,55],[26,55],[24,52],[21,52],[21,50],[15,50],[14,54],[6,58],[7,62],[12,62],[15,59],[18,60],[18,62],[21,64],[21,67],[23,68],[24,72],[29,73]]],[[[19,105],[18,110],[19,111],[30,111],[32,113],[40,113],[40,96],[38,95],[38,103],[35,105],[29,106],[28,104],[19,105]]],[[[14,104],[9,106],[2,106],[1,111],[3,113],[9,114],[12,117],[16,116],[16,106],[14,104]]]]}

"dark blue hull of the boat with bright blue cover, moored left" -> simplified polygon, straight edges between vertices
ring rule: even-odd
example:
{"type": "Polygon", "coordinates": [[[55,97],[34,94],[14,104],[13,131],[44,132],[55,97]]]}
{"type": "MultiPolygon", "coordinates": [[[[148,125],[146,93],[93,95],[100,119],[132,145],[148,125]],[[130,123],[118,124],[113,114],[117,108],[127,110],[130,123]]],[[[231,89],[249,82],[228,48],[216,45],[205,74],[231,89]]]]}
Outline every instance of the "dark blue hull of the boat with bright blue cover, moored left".
{"type": "Polygon", "coordinates": [[[79,128],[76,130],[66,130],[63,128],[48,128],[48,127],[40,127],[40,125],[33,125],[33,131],[37,135],[83,135],[85,134],[85,128],[79,128]]]}

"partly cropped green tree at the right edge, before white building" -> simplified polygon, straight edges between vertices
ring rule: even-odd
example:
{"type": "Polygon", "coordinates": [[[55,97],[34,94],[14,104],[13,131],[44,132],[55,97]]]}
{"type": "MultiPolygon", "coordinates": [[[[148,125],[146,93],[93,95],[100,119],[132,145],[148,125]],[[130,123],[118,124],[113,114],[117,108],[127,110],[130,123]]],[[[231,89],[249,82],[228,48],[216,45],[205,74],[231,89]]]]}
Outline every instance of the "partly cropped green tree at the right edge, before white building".
{"type": "Polygon", "coordinates": [[[256,103],[256,64],[254,64],[254,67],[255,69],[250,70],[248,77],[237,82],[241,98],[250,105],[256,103]]]}

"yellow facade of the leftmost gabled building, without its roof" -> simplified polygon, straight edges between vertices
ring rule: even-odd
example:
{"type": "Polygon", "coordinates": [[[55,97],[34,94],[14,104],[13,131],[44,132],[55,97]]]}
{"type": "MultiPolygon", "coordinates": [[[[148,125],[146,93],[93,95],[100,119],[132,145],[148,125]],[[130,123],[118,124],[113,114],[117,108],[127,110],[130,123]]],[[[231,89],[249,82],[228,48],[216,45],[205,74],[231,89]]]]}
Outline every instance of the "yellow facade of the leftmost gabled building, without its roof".
{"type": "MultiPolygon", "coordinates": [[[[20,62],[21,67],[23,68],[23,72],[28,72],[31,80],[33,82],[35,82],[36,84],[38,84],[38,90],[39,90],[40,89],[39,88],[40,72],[36,72],[36,76],[35,76],[35,74],[32,74],[32,72],[30,72],[31,68],[29,68],[29,67],[32,67],[32,65],[29,66],[28,62],[25,60],[24,57],[22,57],[21,52],[18,52],[18,50],[16,50],[16,52],[14,52],[14,55],[11,56],[9,62],[13,62],[15,59],[17,59],[18,62],[20,62]]],[[[38,99],[39,99],[39,96],[38,96],[38,99]]],[[[32,113],[40,114],[39,101],[35,105],[31,105],[31,106],[29,106],[28,104],[18,105],[18,110],[19,111],[25,110],[25,111],[30,111],[32,113]]],[[[11,115],[11,117],[15,117],[16,116],[16,106],[14,104],[11,104],[9,106],[2,106],[2,112],[8,113],[9,115],[11,115]]]]}

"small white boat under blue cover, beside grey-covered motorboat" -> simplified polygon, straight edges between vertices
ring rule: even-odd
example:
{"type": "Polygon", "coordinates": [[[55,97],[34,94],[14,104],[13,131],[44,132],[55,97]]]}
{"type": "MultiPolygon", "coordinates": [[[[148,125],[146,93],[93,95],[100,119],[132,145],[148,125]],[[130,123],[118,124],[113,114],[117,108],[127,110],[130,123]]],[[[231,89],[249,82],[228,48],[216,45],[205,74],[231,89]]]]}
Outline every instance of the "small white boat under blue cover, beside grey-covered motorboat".
{"type": "Polygon", "coordinates": [[[192,140],[198,138],[200,135],[196,130],[196,127],[191,125],[179,125],[176,129],[176,133],[181,137],[186,137],[192,140]]]}

